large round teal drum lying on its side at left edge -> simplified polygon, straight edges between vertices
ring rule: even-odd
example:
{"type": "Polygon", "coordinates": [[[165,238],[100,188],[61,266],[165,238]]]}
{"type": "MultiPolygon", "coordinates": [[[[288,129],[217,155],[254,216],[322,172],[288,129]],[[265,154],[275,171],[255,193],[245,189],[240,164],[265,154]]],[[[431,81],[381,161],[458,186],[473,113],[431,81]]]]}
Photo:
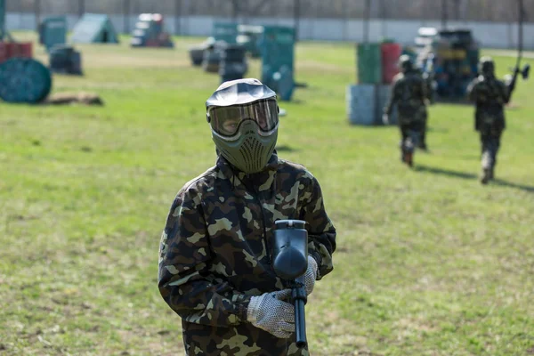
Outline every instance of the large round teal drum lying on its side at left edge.
{"type": "Polygon", "coordinates": [[[13,58],[0,64],[0,99],[36,103],[52,90],[52,75],[44,65],[29,58],[13,58]]]}

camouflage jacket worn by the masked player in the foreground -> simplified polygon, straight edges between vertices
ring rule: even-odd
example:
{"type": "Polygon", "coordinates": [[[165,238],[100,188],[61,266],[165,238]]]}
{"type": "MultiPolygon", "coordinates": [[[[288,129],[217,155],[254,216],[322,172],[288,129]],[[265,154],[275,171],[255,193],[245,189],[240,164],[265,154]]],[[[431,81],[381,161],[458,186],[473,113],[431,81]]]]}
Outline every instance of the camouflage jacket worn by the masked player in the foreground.
{"type": "Polygon", "coordinates": [[[158,287],[182,318],[188,355],[301,355],[295,337],[279,339],[247,322],[252,295],[284,288],[271,265],[278,219],[308,225],[319,279],[332,271],[336,230],[320,185],[303,166],[272,155],[258,174],[222,157],[178,192],[159,251],[158,287]]]}

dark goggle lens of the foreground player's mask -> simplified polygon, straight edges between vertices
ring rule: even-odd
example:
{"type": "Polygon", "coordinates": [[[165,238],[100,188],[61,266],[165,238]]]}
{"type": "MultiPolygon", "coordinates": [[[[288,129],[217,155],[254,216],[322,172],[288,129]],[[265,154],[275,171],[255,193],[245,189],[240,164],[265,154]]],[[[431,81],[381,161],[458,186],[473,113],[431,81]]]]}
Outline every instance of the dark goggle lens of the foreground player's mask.
{"type": "Polygon", "coordinates": [[[278,105],[274,100],[255,101],[247,105],[215,107],[209,110],[210,123],[217,134],[233,136],[239,124],[252,120],[258,125],[260,134],[269,132],[278,125],[278,105]]]}

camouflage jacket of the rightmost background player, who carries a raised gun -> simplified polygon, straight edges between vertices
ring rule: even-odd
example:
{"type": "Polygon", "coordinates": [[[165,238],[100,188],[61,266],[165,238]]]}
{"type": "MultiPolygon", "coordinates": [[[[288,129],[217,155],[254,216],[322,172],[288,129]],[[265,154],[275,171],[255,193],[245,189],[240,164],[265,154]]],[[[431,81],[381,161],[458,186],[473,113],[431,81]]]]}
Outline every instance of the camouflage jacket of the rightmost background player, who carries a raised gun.
{"type": "Polygon", "coordinates": [[[476,104],[474,129],[481,132],[501,132],[506,128],[505,105],[510,90],[495,77],[476,77],[467,87],[469,100],[476,104]]]}

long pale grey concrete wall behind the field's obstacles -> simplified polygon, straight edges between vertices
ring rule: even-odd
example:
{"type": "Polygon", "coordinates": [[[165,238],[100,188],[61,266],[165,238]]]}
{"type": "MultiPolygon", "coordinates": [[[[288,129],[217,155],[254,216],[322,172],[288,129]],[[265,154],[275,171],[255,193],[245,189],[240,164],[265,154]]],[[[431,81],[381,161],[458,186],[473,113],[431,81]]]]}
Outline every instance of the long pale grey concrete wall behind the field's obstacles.
{"type": "MultiPolygon", "coordinates": [[[[46,17],[42,15],[41,19],[46,17]]],[[[78,17],[69,15],[69,28],[73,28],[78,17]]],[[[134,28],[136,16],[125,19],[124,16],[111,16],[115,28],[119,32],[134,28]],[[127,22],[126,22],[127,21],[127,22]]],[[[166,29],[174,34],[184,36],[211,35],[214,20],[211,16],[187,16],[179,19],[166,17],[166,29]],[[177,27],[177,28],[175,28],[177,27]]],[[[245,20],[245,19],[243,19],[245,20]]],[[[243,22],[243,21],[242,21],[243,22]]],[[[252,18],[247,19],[249,24],[279,24],[293,26],[292,19],[287,18],[252,18]]],[[[362,42],[365,40],[365,22],[362,20],[328,20],[328,19],[301,19],[298,34],[303,40],[349,41],[362,42]]],[[[368,23],[368,40],[377,41],[382,37],[391,37],[401,44],[412,44],[421,26],[441,27],[439,21],[421,20],[370,20],[368,23]]],[[[8,30],[36,29],[36,17],[31,13],[6,14],[6,27],[8,30]]],[[[516,48],[517,24],[504,22],[449,22],[449,28],[471,28],[473,34],[481,45],[486,48],[516,48]]],[[[524,47],[534,50],[534,24],[525,24],[524,47]]]]}

